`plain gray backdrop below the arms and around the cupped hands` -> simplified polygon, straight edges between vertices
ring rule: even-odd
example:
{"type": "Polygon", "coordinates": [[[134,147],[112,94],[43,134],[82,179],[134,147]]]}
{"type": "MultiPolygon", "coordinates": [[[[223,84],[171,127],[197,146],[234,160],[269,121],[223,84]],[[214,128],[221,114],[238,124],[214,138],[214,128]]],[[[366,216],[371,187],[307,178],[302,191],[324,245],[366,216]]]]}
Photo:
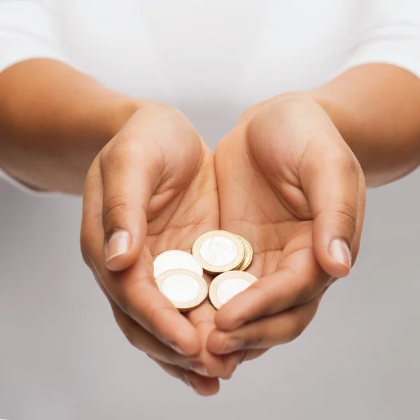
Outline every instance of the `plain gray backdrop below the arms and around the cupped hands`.
{"type": "Polygon", "coordinates": [[[418,419],[419,186],[416,172],[371,190],[351,276],[297,341],[204,399],[118,330],[79,255],[80,199],[0,183],[0,418],[418,419]]]}

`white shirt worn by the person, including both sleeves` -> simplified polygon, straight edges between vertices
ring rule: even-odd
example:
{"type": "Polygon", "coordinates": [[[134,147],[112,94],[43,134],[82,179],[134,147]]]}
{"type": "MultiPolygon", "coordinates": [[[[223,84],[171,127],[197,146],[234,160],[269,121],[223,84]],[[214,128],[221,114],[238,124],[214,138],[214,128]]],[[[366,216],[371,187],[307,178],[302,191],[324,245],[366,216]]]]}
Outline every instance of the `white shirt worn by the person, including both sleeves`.
{"type": "Polygon", "coordinates": [[[34,57],[177,106],[215,143],[248,106],[351,66],[420,75],[420,1],[0,0],[0,72],[34,57]]]}

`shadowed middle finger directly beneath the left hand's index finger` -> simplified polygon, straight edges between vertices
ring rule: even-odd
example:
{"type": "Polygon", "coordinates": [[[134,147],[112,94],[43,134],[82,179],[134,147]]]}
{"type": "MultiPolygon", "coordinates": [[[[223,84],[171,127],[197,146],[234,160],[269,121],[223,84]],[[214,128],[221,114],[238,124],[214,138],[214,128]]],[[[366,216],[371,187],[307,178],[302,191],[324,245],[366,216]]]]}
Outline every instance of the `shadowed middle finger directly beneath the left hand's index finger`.
{"type": "Polygon", "coordinates": [[[155,336],[137,323],[132,318],[127,316],[121,309],[111,300],[111,308],[113,310],[116,322],[123,331],[125,337],[128,339],[132,346],[140,351],[144,351],[149,356],[156,358],[164,363],[170,365],[178,365],[183,369],[190,370],[191,366],[197,363],[197,358],[182,356],[178,352],[165,346],[155,336]]]}

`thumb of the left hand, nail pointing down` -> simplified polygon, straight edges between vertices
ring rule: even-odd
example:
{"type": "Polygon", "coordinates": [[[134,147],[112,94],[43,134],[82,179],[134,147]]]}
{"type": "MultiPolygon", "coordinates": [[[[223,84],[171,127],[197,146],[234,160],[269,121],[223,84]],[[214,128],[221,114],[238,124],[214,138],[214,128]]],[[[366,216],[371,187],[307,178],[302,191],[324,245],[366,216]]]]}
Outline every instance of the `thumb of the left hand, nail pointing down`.
{"type": "Polygon", "coordinates": [[[147,126],[135,122],[125,125],[100,159],[104,253],[106,267],[113,271],[130,267],[139,257],[147,235],[148,204],[165,161],[147,126]]]}

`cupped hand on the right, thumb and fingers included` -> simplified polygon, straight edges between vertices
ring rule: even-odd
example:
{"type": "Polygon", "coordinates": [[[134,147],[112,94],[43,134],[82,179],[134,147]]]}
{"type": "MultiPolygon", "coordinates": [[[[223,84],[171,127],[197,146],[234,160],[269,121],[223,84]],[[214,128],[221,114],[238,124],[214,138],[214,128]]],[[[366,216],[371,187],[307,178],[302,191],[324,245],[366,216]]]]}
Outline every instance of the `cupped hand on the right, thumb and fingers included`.
{"type": "Polygon", "coordinates": [[[295,339],[358,253],[365,179],[335,125],[309,94],[249,109],[218,144],[221,229],[254,250],[258,277],[216,314],[216,354],[259,356],[295,339]]]}

